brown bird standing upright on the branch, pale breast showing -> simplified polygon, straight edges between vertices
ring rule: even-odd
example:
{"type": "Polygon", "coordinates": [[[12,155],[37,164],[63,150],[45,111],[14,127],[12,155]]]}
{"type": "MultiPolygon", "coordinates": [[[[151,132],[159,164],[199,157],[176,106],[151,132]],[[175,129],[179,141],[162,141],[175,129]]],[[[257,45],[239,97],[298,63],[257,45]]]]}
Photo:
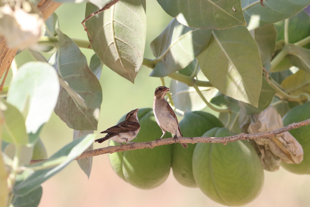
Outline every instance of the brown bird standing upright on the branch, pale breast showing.
{"type": "MultiPolygon", "coordinates": [[[[154,94],[153,112],[158,126],[162,129],[162,137],[165,135],[166,131],[168,131],[174,135],[174,138],[176,139],[177,137],[183,136],[181,134],[180,125],[178,119],[176,118],[175,112],[164,98],[168,91],[170,91],[170,89],[165,86],[159,86],[156,88],[154,94]]],[[[159,139],[162,139],[162,137],[159,139]]],[[[181,144],[184,148],[187,147],[186,143],[181,144]]]]}

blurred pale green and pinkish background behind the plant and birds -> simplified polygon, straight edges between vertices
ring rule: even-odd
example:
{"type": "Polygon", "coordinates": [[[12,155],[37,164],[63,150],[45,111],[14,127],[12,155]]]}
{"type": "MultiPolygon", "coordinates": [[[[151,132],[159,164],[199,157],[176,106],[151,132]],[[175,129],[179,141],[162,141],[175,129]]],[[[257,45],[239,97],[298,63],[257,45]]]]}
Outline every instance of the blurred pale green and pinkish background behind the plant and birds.
{"type": "MultiPolygon", "coordinates": [[[[85,16],[86,3],[66,3],[57,10],[60,30],[71,38],[87,39],[81,25],[85,16]]],[[[151,41],[169,24],[168,16],[157,1],[147,1],[147,36],[144,57],[153,58],[151,41]]],[[[88,62],[94,54],[83,49],[88,62]]],[[[33,60],[26,50],[15,58],[17,66],[33,60]]],[[[135,108],[153,106],[156,87],[161,85],[159,78],[149,77],[150,69],[142,66],[135,84],[120,77],[104,66],[100,83],[103,89],[103,101],[98,124],[97,138],[101,131],[117,124],[117,121],[135,108]]],[[[10,75],[8,76],[8,80],[10,75]]],[[[169,87],[170,79],[166,78],[169,87]]],[[[6,85],[8,85],[7,81],[6,85]]],[[[209,111],[213,113],[212,111],[209,111]]],[[[213,113],[218,115],[217,113],[213,113]]],[[[179,121],[182,117],[179,117],[179,121]]],[[[160,130],[158,128],[158,130],[160,130]]],[[[73,130],[68,128],[55,114],[45,124],[41,133],[42,141],[51,156],[64,145],[72,141],[73,130]]],[[[108,142],[94,143],[94,149],[105,147],[108,142]]],[[[93,158],[90,178],[79,168],[76,161],[43,183],[43,195],[40,207],[63,206],[223,206],[210,200],[198,188],[180,185],[170,172],[168,179],[152,190],[141,190],[123,181],[113,172],[108,155],[93,158]]],[[[309,206],[310,176],[296,175],[280,169],[277,172],[265,171],[265,181],[261,194],[246,206],[309,206]]]]}

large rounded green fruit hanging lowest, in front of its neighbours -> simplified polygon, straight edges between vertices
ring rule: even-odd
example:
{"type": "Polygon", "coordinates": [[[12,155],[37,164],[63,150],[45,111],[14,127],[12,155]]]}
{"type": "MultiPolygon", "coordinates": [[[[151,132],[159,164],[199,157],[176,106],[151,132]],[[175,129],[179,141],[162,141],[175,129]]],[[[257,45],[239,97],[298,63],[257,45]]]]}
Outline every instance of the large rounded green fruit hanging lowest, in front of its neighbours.
{"type": "MultiPolygon", "coordinates": [[[[227,137],[227,128],[213,128],[203,136],[227,137]]],[[[197,143],[193,153],[193,175],[210,199],[230,206],[254,200],[263,187],[263,166],[247,141],[197,143]]]]}

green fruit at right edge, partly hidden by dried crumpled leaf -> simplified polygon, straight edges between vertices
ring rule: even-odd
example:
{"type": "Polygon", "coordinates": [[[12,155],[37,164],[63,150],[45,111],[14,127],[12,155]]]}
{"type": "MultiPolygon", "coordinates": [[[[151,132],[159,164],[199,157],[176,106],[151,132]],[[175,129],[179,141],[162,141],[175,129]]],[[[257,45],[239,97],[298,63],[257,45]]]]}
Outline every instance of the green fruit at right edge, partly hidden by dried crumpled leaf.
{"type": "MultiPolygon", "coordinates": [[[[310,119],[310,102],[295,106],[283,117],[283,125],[287,126],[294,122],[310,119]]],[[[287,164],[282,162],[281,166],[296,174],[310,174],[310,125],[292,129],[289,131],[303,147],[303,161],[300,164],[287,164]]]]}

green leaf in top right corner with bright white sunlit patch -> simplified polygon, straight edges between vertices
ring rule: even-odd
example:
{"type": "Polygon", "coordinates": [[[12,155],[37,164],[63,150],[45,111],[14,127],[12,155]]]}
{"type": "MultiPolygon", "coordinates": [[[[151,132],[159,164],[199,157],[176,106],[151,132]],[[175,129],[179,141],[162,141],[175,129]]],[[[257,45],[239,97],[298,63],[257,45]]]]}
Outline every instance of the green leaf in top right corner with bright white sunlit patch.
{"type": "Polygon", "coordinates": [[[290,18],[307,7],[309,3],[309,0],[285,2],[272,0],[264,1],[265,7],[262,7],[260,1],[241,0],[243,15],[249,30],[290,18]]]}

